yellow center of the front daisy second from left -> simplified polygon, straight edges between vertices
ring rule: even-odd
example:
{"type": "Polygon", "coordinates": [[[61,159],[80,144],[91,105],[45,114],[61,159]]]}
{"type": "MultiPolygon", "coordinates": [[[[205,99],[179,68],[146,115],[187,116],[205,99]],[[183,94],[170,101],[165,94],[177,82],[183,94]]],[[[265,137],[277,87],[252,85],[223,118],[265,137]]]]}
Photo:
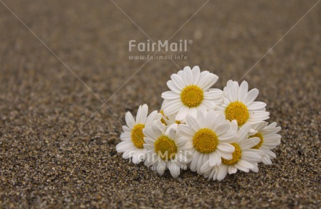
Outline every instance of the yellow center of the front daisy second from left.
{"type": "Polygon", "coordinates": [[[177,145],[169,137],[161,136],[155,142],[155,152],[163,160],[174,159],[177,153],[177,145]]]}

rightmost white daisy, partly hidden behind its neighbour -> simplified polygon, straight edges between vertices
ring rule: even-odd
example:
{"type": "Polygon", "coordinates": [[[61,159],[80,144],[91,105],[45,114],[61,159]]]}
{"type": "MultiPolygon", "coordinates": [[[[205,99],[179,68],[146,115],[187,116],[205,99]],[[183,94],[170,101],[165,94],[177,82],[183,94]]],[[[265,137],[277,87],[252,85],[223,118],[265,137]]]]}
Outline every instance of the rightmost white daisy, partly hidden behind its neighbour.
{"type": "Polygon", "coordinates": [[[253,146],[253,148],[261,150],[265,154],[262,157],[264,164],[272,164],[271,160],[276,158],[276,154],[271,150],[281,144],[281,135],[276,134],[281,130],[281,127],[276,127],[275,122],[270,125],[267,122],[262,122],[252,125],[252,128],[255,130],[255,134],[252,134],[250,137],[260,138],[260,142],[253,146]]]}

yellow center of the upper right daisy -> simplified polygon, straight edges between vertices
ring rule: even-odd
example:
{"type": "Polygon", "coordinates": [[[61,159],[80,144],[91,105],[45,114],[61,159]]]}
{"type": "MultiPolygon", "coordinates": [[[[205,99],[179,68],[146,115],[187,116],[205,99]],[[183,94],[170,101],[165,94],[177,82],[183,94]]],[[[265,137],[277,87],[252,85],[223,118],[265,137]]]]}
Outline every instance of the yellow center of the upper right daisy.
{"type": "Polygon", "coordinates": [[[225,109],[225,118],[229,121],[237,120],[237,125],[241,126],[248,121],[250,114],[243,102],[231,102],[225,109]]]}

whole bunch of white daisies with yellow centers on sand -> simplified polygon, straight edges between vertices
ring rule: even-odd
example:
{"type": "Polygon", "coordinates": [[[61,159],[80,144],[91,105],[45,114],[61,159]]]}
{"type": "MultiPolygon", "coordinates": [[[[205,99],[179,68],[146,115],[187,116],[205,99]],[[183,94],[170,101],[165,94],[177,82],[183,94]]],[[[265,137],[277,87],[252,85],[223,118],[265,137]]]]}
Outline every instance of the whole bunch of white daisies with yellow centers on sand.
{"type": "Polygon", "coordinates": [[[148,114],[147,104],[136,118],[126,113],[117,152],[160,176],[174,178],[191,169],[205,178],[223,180],[227,174],[257,172],[258,163],[272,164],[281,143],[281,127],[265,122],[269,112],[255,101],[259,91],[232,80],[223,91],[212,88],[218,76],[185,67],[170,77],[160,111],[148,114]]]}

